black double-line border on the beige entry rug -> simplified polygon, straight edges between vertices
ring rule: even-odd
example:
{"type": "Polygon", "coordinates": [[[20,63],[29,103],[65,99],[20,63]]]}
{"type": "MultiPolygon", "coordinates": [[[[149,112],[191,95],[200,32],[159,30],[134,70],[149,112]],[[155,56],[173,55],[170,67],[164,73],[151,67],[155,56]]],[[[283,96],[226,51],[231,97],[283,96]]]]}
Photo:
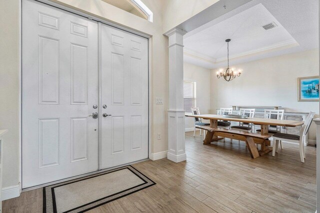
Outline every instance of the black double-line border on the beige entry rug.
{"type": "MultiPolygon", "coordinates": [[[[56,187],[61,187],[61,186],[65,186],[65,185],[68,185],[68,184],[76,183],[76,182],[79,182],[79,181],[82,181],[82,180],[87,180],[87,179],[95,178],[95,177],[98,177],[98,176],[110,174],[110,173],[113,173],[113,172],[116,172],[116,171],[120,171],[120,170],[123,170],[123,169],[128,169],[130,172],[132,172],[135,176],[137,176],[139,179],[141,179],[141,180],[144,182],[143,184],[139,184],[139,185],[137,185],[137,186],[131,187],[131,188],[126,189],[126,190],[123,190],[123,191],[121,191],[121,192],[117,192],[117,193],[114,193],[114,194],[112,194],[112,195],[106,196],[106,197],[104,197],[104,198],[100,198],[100,199],[98,199],[98,200],[96,200],[96,201],[93,201],[93,202],[84,204],[84,205],[82,205],[82,206],[79,206],[79,207],[76,207],[76,208],[74,208],[74,209],[68,210],[68,211],[66,211],[66,212],[64,212],[64,213],[68,213],[68,212],[74,211],[74,210],[76,210],[76,209],[85,207],[85,206],[87,206],[87,205],[93,204],[93,203],[98,202],[98,201],[101,201],[101,200],[103,200],[103,199],[107,199],[107,198],[109,198],[109,197],[115,196],[115,195],[120,194],[120,193],[123,193],[123,192],[125,192],[125,191],[132,190],[132,189],[134,189],[134,188],[136,188],[136,187],[140,187],[140,186],[143,186],[143,185],[145,185],[145,184],[148,183],[148,182],[146,182],[145,180],[143,180],[139,175],[137,175],[134,171],[132,171],[132,170],[130,169],[130,167],[132,167],[132,166],[129,165],[129,166],[124,166],[124,167],[119,167],[119,168],[116,168],[116,169],[114,169],[114,170],[111,170],[110,172],[106,171],[106,172],[103,172],[103,173],[101,173],[101,174],[92,175],[92,177],[89,177],[89,178],[81,177],[81,178],[77,178],[77,179],[74,179],[74,180],[71,180],[71,181],[67,181],[67,182],[70,182],[70,183],[66,183],[66,184],[63,184],[63,182],[60,183],[60,184],[62,184],[62,185],[59,185],[59,186],[56,186],[56,187]],[[81,180],[79,180],[79,179],[81,179],[81,180]],[[77,180],[77,181],[75,181],[75,180],[77,180]]],[[[144,174],[142,174],[140,171],[138,171],[138,170],[135,169],[134,167],[132,167],[132,168],[133,168],[135,171],[137,171],[138,173],[140,173],[144,178],[148,179],[152,184],[150,184],[150,185],[148,185],[148,186],[146,186],[146,187],[140,188],[140,189],[138,189],[138,190],[134,190],[134,191],[132,191],[132,192],[130,192],[130,193],[128,193],[128,194],[122,195],[122,196],[120,196],[120,197],[117,197],[117,198],[111,199],[111,200],[109,200],[109,201],[103,202],[103,203],[98,204],[98,205],[96,205],[96,206],[94,206],[94,207],[90,207],[90,208],[88,208],[88,209],[86,209],[86,210],[84,210],[84,211],[81,211],[81,212],[79,212],[79,213],[83,213],[83,212],[92,210],[92,209],[94,209],[94,208],[96,208],[96,207],[102,206],[102,205],[107,204],[107,203],[109,203],[109,202],[115,201],[115,200],[117,200],[117,199],[123,198],[123,197],[128,196],[128,195],[131,195],[131,194],[133,194],[133,193],[136,193],[136,192],[138,192],[138,191],[140,191],[140,190],[146,189],[146,188],[151,187],[151,186],[153,186],[153,185],[156,184],[156,183],[154,183],[151,179],[149,179],[149,178],[146,177],[144,174]]],[[[53,185],[55,185],[55,184],[53,184],[53,185]]],[[[50,186],[53,186],[53,185],[50,185],[50,186]]],[[[50,186],[46,186],[46,187],[50,187],[50,186]]],[[[43,193],[42,193],[42,194],[43,194],[43,213],[46,213],[46,193],[45,193],[45,188],[46,188],[46,187],[43,187],[43,193]]],[[[53,213],[56,213],[56,203],[55,203],[55,195],[54,195],[54,188],[56,188],[56,187],[52,187],[52,188],[51,188],[53,213]]]]}

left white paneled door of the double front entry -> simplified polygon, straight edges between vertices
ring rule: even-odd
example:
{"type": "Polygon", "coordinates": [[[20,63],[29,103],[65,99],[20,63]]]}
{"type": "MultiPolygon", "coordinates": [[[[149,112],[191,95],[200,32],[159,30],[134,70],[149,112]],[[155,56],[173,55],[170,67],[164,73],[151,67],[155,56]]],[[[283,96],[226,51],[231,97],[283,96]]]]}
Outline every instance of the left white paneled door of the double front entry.
{"type": "Polygon", "coordinates": [[[98,169],[97,22],[22,1],[22,188],[98,169]]]}

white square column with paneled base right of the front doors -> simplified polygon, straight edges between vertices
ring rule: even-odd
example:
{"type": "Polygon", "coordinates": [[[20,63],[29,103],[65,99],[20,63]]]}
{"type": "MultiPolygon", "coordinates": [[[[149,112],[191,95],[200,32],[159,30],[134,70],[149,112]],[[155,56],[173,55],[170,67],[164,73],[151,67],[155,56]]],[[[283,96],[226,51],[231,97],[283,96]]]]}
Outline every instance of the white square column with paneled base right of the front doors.
{"type": "Polygon", "coordinates": [[[167,159],[178,163],[186,160],[183,111],[183,35],[186,32],[173,28],[169,37],[169,110],[167,159]]]}

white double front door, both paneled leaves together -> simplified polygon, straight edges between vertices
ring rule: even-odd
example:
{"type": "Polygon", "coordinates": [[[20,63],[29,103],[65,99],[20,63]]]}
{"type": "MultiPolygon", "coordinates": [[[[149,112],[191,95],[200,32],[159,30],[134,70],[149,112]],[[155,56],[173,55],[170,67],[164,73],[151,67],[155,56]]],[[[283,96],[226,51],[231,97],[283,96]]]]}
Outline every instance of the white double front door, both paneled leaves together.
{"type": "Polygon", "coordinates": [[[22,188],[148,157],[147,57],[146,38],[22,1],[22,188]]]}

